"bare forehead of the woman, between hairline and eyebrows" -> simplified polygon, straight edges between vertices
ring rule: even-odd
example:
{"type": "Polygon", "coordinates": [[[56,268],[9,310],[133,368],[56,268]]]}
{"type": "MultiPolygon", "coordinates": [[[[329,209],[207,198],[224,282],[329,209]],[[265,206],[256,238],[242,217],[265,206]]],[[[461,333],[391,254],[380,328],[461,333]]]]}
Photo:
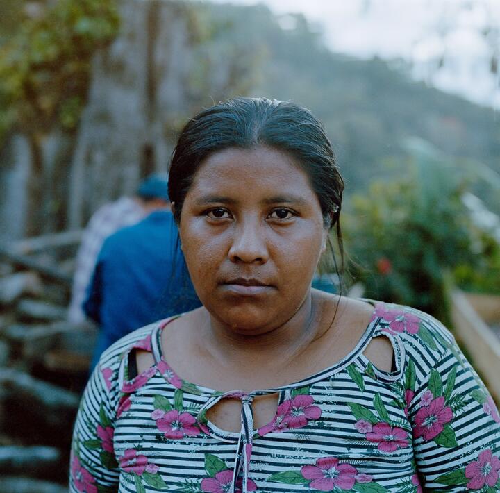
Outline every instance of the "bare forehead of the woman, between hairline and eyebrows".
{"type": "Polygon", "coordinates": [[[294,190],[303,195],[315,193],[306,172],[290,154],[269,147],[224,149],[202,162],[190,192],[224,192],[240,194],[275,193],[294,190]]]}

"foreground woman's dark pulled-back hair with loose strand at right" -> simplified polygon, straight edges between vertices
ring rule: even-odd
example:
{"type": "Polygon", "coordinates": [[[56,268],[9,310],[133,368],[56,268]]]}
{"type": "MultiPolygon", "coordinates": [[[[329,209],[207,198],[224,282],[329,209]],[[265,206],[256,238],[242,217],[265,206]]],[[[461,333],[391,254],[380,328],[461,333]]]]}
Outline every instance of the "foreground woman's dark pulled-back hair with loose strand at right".
{"type": "Polygon", "coordinates": [[[324,225],[336,225],[343,264],[339,214],[344,181],[324,126],[306,108],[289,101],[235,98],[201,111],[178,138],[169,171],[169,197],[178,223],[199,166],[217,151],[258,145],[289,153],[308,175],[324,225]]]}

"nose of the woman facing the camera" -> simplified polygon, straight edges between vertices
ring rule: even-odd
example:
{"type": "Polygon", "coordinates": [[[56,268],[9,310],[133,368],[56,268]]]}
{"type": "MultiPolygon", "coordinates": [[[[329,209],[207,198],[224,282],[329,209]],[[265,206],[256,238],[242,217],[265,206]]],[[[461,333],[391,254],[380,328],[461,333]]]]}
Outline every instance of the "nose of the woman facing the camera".
{"type": "Polygon", "coordinates": [[[235,227],[233,242],[229,249],[231,262],[265,264],[269,259],[264,226],[258,219],[244,221],[235,227]]]}

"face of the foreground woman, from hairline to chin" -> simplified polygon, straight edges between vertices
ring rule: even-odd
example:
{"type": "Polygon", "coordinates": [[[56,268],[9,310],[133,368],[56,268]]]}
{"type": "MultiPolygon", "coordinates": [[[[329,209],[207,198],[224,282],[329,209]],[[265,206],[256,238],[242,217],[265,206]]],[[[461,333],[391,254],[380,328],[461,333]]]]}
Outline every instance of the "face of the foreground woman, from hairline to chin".
{"type": "Polygon", "coordinates": [[[249,335],[272,331],[299,310],[327,235],[308,176],[269,147],[226,149],[202,162],[179,231],[203,305],[249,335]]]}

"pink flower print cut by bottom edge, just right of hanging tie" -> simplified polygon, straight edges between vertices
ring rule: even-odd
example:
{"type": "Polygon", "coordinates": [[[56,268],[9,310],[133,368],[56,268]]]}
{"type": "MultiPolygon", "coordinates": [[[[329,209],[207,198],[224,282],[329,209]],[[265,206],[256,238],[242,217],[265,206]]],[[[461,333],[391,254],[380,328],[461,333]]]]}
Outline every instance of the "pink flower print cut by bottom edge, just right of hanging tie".
{"type": "Polygon", "coordinates": [[[339,464],[338,458],[322,457],[316,465],[302,467],[301,474],[303,478],[313,480],[309,483],[311,490],[329,492],[335,487],[350,490],[356,483],[358,471],[349,464],[339,464]]]}

